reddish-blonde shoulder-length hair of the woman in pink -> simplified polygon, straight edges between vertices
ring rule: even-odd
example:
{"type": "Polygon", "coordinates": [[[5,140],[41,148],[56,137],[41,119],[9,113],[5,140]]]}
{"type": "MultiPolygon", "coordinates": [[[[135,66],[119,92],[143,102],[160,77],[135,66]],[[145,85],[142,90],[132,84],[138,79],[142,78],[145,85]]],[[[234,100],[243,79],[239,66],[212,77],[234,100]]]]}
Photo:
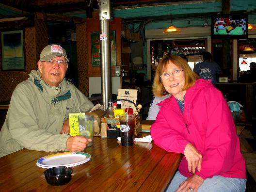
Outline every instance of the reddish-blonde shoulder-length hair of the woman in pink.
{"type": "Polygon", "coordinates": [[[152,92],[154,96],[164,96],[169,94],[164,89],[164,86],[162,84],[160,75],[164,72],[164,70],[167,68],[167,65],[169,62],[172,62],[175,64],[179,69],[184,70],[185,74],[185,84],[183,86],[183,90],[187,90],[188,88],[192,87],[195,83],[195,80],[199,79],[198,75],[196,75],[188,65],[187,61],[179,56],[176,55],[168,55],[165,56],[158,64],[155,78],[153,82],[152,92]]]}

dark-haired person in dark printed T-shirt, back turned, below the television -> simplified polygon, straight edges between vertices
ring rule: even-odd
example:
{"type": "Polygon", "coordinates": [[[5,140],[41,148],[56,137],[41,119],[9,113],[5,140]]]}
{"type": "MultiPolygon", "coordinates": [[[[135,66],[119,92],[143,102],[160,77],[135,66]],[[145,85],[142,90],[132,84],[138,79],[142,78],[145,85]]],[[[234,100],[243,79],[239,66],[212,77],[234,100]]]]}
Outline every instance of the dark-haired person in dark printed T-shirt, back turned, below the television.
{"type": "Polygon", "coordinates": [[[211,62],[211,54],[203,52],[203,62],[195,65],[194,72],[202,79],[208,80],[212,84],[216,84],[216,75],[221,74],[221,67],[216,62],[211,62]]]}

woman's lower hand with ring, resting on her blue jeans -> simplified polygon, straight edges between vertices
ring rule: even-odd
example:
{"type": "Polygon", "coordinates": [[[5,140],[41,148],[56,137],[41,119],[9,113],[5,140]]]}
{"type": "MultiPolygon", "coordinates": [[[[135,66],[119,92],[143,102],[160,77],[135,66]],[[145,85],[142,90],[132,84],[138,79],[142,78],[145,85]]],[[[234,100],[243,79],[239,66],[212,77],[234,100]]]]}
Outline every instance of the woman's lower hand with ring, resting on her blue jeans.
{"type": "Polygon", "coordinates": [[[183,181],[176,192],[197,192],[198,188],[203,184],[204,179],[198,175],[193,175],[183,181]]]}

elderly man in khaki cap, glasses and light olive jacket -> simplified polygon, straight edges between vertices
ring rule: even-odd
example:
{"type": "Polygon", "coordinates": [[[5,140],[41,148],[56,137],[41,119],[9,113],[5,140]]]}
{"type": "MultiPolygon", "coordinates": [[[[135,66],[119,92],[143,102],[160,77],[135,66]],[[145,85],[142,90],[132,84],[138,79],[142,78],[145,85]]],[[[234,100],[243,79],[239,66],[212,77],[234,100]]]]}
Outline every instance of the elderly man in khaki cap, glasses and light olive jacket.
{"type": "Polygon", "coordinates": [[[69,113],[87,112],[92,102],[64,79],[68,59],[64,48],[46,46],[28,80],[13,92],[0,132],[0,157],[22,148],[39,151],[83,151],[90,142],[70,136],[69,113]]]}

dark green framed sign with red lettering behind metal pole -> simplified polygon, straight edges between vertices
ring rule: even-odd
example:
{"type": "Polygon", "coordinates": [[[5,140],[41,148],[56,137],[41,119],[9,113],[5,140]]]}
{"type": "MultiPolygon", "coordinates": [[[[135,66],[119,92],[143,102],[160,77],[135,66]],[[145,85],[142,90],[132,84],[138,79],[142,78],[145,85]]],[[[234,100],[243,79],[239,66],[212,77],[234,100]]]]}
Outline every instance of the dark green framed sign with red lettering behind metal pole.
{"type": "MultiPolygon", "coordinates": [[[[92,65],[100,66],[100,38],[104,38],[104,34],[99,35],[99,32],[92,32],[92,65]]],[[[111,44],[111,65],[116,65],[116,42],[115,31],[110,32],[110,44],[111,44]]]]}

